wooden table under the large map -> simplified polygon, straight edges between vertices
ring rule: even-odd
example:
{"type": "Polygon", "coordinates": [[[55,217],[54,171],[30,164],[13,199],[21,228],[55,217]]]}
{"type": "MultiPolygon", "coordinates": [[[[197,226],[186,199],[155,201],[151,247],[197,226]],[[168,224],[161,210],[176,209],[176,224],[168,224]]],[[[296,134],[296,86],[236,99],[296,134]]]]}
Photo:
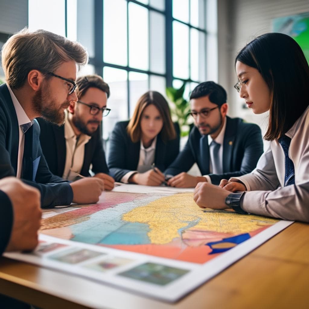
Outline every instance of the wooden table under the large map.
{"type": "Polygon", "coordinates": [[[308,308],[309,225],[293,223],[175,304],[3,257],[0,293],[57,309],[308,308]]]}

